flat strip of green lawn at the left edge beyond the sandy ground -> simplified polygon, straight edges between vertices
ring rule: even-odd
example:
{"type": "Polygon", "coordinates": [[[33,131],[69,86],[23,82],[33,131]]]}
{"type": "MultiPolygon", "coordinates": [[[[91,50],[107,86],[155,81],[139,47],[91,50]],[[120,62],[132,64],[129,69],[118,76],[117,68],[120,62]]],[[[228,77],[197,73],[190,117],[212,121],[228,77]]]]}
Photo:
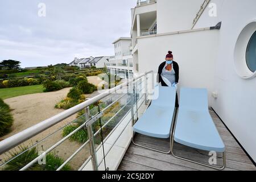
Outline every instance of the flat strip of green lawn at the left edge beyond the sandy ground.
{"type": "Polygon", "coordinates": [[[0,89],[0,98],[6,99],[16,96],[23,96],[32,93],[42,93],[43,85],[20,86],[14,88],[0,89]]]}

